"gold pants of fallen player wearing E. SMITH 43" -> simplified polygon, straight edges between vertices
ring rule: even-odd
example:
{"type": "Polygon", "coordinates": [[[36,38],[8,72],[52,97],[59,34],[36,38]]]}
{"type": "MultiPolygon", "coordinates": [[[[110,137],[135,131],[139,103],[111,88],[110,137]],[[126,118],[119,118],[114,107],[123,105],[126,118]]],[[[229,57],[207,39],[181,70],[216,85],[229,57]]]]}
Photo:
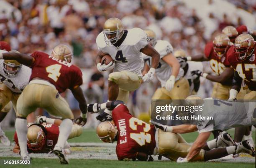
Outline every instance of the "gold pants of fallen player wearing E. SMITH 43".
{"type": "MultiPolygon", "coordinates": [[[[181,135],[172,132],[164,132],[157,129],[156,154],[164,155],[170,160],[177,160],[179,157],[186,158],[191,145],[181,135]]],[[[205,150],[195,156],[192,161],[204,161],[205,150]]]]}

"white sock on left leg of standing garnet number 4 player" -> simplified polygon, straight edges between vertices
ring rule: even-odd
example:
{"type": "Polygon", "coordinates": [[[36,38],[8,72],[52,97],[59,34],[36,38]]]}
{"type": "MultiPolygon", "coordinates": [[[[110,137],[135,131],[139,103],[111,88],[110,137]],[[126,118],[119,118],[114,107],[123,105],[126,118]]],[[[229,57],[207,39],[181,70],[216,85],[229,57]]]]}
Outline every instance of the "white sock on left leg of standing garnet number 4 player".
{"type": "Polygon", "coordinates": [[[17,118],[15,122],[15,129],[18,136],[19,146],[20,146],[20,155],[28,155],[27,150],[27,120],[22,118],[17,118]]]}

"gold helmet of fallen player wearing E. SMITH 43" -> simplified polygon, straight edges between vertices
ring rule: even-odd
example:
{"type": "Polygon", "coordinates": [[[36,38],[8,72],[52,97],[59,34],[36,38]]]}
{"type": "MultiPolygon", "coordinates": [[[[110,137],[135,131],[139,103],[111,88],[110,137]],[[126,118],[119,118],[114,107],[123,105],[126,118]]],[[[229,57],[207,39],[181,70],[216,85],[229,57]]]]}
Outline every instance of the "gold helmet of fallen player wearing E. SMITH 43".
{"type": "Polygon", "coordinates": [[[113,143],[118,133],[117,128],[109,121],[101,122],[96,129],[98,137],[105,143],[113,143]]]}

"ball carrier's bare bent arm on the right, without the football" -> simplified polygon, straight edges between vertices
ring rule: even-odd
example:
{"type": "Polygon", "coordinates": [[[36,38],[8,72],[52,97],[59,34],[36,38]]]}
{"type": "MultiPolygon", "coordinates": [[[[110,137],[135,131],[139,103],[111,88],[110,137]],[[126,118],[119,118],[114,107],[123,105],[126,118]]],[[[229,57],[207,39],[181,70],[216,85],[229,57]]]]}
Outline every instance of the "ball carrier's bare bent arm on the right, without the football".
{"type": "Polygon", "coordinates": [[[152,57],[151,67],[156,69],[159,64],[160,54],[150,44],[141,48],[141,52],[152,57]]]}

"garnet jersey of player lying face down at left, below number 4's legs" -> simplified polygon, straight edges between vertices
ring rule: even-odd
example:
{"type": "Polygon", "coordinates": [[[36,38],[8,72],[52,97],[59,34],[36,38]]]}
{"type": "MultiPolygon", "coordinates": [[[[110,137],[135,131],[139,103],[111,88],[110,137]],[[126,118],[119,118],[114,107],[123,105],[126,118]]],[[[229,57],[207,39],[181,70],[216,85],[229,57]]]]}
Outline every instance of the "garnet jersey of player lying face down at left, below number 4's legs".
{"type": "MultiPolygon", "coordinates": [[[[28,148],[29,153],[48,153],[49,151],[53,150],[54,146],[56,145],[59,137],[59,126],[56,124],[41,124],[46,129],[46,141],[45,146],[42,150],[31,150],[28,148]]],[[[14,134],[14,141],[19,146],[18,143],[18,136],[17,132],[14,134]]]]}

